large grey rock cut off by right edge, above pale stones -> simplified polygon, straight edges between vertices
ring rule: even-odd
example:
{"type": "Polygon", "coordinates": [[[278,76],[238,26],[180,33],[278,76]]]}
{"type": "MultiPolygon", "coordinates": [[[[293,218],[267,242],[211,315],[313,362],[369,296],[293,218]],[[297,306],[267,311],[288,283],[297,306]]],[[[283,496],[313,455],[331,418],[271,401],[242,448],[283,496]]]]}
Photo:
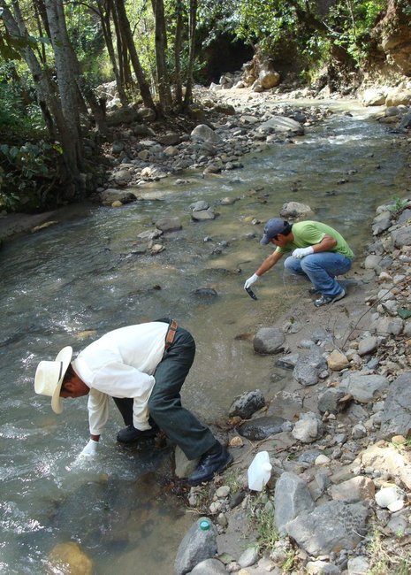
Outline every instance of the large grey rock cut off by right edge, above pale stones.
{"type": "Polygon", "coordinates": [[[385,439],[393,435],[407,437],[411,432],[411,372],[393,381],[384,403],[380,434],[385,439]]]}

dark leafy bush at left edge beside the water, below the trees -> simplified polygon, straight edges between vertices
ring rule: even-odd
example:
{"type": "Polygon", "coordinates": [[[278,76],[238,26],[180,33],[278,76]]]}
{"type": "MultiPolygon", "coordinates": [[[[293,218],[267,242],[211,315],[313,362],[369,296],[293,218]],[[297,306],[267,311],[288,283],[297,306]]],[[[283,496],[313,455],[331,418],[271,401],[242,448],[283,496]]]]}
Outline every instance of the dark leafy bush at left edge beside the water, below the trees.
{"type": "Polygon", "coordinates": [[[0,145],[0,209],[36,211],[56,174],[59,144],[39,141],[0,145]],[[26,208],[25,208],[26,205],[26,208]]]}

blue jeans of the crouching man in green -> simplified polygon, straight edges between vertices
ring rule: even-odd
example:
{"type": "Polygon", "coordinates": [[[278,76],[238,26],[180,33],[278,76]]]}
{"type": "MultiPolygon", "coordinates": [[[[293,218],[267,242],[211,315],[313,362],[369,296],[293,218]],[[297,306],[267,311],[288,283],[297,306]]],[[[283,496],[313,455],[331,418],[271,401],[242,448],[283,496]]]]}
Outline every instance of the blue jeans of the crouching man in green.
{"type": "Polygon", "coordinates": [[[301,259],[287,257],[284,267],[292,273],[308,277],[322,294],[335,297],[343,289],[335,276],[348,272],[351,268],[351,259],[332,251],[321,251],[301,259]]]}

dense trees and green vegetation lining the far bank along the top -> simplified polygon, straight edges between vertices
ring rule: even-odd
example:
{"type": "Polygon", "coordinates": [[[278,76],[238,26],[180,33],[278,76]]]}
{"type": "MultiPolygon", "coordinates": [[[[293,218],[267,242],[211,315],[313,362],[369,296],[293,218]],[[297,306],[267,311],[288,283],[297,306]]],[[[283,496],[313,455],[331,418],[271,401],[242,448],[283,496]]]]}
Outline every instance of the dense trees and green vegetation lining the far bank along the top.
{"type": "Polygon", "coordinates": [[[38,211],[95,187],[104,82],[118,106],[161,119],[190,112],[223,42],[227,70],[247,47],[301,80],[336,61],[356,70],[387,1],[0,0],[0,209],[38,211]]]}

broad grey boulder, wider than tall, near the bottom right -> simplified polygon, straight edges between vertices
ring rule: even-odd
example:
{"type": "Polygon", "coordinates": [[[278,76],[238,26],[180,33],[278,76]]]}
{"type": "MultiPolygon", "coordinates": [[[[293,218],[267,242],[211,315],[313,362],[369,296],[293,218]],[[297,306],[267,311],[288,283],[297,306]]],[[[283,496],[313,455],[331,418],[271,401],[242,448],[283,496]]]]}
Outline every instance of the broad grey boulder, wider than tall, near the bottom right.
{"type": "Polygon", "coordinates": [[[367,515],[362,503],[328,502],[303,511],[285,529],[308,555],[329,555],[356,548],[365,534],[367,515]]]}

